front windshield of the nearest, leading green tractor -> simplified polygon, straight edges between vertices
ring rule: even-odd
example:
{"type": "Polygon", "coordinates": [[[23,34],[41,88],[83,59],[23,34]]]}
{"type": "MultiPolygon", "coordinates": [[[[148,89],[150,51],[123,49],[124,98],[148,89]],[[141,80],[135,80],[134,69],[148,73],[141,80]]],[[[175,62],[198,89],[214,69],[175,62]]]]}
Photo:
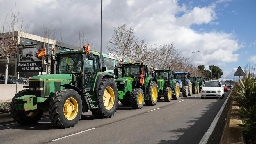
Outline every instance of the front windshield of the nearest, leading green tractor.
{"type": "Polygon", "coordinates": [[[63,54],[58,58],[59,74],[82,73],[81,54],[63,54]]]}

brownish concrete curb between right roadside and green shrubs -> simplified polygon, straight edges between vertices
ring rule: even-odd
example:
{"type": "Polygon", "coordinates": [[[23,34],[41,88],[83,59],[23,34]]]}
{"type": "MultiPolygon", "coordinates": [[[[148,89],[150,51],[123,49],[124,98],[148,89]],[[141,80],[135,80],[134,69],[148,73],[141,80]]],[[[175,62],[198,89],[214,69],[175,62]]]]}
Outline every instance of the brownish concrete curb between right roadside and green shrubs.
{"type": "Polygon", "coordinates": [[[223,129],[220,144],[226,143],[238,143],[244,144],[244,138],[242,133],[242,128],[239,126],[242,120],[239,116],[239,106],[236,101],[230,101],[230,108],[227,113],[227,121],[223,129]]]}

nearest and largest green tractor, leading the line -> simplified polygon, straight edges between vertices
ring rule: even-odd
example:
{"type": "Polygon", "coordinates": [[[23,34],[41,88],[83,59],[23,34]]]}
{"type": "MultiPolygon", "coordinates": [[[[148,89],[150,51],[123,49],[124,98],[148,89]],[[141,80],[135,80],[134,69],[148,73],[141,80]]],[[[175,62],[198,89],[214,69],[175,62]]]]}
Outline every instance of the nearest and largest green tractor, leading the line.
{"type": "Polygon", "coordinates": [[[26,90],[17,93],[11,102],[15,122],[30,125],[49,111],[51,122],[61,128],[73,127],[82,112],[92,111],[97,118],[109,118],[118,106],[118,89],[114,77],[104,72],[99,53],[84,50],[63,51],[51,55],[56,74],[38,75],[29,79],[26,90]],[[55,60],[54,60],[55,59],[55,60]]]}

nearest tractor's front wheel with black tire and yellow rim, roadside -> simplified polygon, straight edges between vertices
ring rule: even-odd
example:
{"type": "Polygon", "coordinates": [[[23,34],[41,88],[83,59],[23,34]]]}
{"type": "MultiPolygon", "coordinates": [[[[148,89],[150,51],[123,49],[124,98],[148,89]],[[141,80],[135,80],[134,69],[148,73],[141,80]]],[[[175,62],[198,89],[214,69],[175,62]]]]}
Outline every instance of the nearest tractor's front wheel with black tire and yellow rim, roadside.
{"type": "Polygon", "coordinates": [[[62,89],[54,93],[49,104],[49,118],[57,127],[74,127],[82,114],[82,100],[77,91],[62,89]]]}

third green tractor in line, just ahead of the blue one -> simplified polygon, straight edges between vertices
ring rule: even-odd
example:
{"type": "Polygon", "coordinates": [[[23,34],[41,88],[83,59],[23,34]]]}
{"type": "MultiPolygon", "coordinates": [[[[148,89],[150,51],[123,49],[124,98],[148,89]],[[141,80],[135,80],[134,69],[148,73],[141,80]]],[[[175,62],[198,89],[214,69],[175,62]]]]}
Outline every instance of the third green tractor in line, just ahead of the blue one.
{"type": "Polygon", "coordinates": [[[163,99],[170,102],[171,99],[179,99],[179,82],[173,78],[173,70],[159,69],[154,71],[154,77],[157,79],[158,100],[163,99]]]}

